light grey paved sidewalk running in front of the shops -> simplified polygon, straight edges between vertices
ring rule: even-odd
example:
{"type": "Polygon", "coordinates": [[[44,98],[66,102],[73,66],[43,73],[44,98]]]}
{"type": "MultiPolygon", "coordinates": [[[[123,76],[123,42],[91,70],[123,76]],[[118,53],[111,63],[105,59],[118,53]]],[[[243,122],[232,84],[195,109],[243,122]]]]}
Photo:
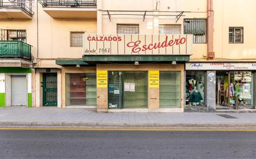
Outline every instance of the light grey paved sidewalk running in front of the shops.
{"type": "Polygon", "coordinates": [[[0,108],[1,122],[99,124],[255,124],[256,113],[97,113],[86,108],[0,108]],[[229,114],[227,119],[217,114],[229,114]]]}

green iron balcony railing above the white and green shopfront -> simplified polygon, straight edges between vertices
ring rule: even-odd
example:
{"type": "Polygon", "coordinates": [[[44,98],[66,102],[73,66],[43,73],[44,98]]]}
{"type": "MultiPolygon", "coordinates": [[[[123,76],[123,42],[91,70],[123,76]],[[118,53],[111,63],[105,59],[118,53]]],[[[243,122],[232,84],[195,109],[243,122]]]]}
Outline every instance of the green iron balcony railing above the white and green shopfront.
{"type": "Polygon", "coordinates": [[[22,41],[0,41],[0,58],[31,60],[31,45],[22,41]]]}

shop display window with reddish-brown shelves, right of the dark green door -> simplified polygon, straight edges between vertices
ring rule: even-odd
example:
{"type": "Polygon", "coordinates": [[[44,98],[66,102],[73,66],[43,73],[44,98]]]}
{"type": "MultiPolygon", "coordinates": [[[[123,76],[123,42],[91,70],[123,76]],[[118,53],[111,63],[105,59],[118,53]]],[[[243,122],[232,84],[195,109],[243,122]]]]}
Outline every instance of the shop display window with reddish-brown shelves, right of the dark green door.
{"type": "Polygon", "coordinates": [[[96,74],[66,74],[66,106],[96,106],[96,74]]]}

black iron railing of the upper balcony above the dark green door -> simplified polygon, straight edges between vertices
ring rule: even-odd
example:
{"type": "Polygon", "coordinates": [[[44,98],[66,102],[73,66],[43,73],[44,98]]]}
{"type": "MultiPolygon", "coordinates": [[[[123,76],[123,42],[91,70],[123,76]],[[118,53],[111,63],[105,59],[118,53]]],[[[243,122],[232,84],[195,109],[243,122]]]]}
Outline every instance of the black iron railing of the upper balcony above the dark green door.
{"type": "Polygon", "coordinates": [[[39,0],[43,7],[93,7],[96,0],[39,0]]]}

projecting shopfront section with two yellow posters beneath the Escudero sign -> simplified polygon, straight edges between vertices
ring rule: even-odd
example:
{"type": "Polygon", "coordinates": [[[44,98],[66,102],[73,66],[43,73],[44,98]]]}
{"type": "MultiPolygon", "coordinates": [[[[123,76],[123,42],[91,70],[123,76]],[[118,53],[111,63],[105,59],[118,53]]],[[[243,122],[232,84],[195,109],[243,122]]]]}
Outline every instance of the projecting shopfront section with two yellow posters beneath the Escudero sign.
{"type": "Polygon", "coordinates": [[[98,111],[183,111],[184,64],[97,64],[98,111]]]}

